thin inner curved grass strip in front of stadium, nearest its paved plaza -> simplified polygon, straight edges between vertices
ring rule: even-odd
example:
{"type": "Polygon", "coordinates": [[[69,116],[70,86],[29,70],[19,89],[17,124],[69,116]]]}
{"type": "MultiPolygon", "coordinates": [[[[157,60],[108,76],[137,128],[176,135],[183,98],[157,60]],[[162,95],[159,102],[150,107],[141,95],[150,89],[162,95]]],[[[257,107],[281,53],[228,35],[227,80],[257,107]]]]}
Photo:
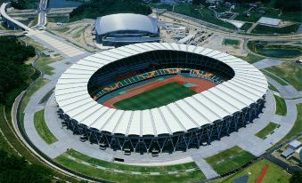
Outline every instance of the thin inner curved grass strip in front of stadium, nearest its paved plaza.
{"type": "Polygon", "coordinates": [[[99,165],[102,167],[116,169],[120,171],[140,171],[140,172],[163,172],[163,171],[184,171],[187,169],[197,169],[198,166],[196,163],[182,163],[182,164],[175,164],[170,166],[135,166],[135,165],[127,165],[122,163],[110,163],[106,161],[102,161],[96,159],[94,157],[84,155],[79,153],[74,149],[69,149],[65,152],[67,155],[71,155],[78,160],[82,160],[86,163],[91,163],[94,165],[99,165]]]}

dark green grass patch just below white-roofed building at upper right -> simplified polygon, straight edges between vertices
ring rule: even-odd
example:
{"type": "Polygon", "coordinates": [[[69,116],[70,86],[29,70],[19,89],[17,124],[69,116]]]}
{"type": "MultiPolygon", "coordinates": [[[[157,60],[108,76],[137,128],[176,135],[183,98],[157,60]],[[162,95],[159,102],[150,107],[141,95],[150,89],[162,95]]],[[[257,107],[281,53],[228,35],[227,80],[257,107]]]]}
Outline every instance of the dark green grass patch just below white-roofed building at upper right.
{"type": "Polygon", "coordinates": [[[257,25],[251,33],[255,34],[291,34],[297,32],[299,24],[293,24],[284,28],[274,28],[263,25],[257,25]]]}

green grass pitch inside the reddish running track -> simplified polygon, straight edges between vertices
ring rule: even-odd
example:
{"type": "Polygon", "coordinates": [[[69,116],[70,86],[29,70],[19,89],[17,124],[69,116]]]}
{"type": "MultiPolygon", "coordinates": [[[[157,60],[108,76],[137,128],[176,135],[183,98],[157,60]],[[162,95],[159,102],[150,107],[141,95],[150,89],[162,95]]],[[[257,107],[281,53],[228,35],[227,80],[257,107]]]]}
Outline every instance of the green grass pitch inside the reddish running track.
{"type": "Polygon", "coordinates": [[[195,91],[182,84],[170,83],[151,91],[145,91],[133,97],[122,99],[114,103],[113,106],[122,110],[144,110],[165,106],[178,99],[190,97],[195,93],[195,91]]]}

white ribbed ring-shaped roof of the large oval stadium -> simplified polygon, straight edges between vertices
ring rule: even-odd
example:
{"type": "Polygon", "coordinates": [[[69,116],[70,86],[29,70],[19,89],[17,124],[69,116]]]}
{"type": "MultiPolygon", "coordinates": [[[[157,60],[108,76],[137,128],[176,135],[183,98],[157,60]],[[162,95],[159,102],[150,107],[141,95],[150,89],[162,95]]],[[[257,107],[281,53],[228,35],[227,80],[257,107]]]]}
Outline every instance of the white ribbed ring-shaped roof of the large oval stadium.
{"type": "Polygon", "coordinates": [[[233,115],[262,99],[267,91],[265,76],[246,61],[224,52],[185,44],[131,44],[78,60],[58,80],[55,98],[65,114],[86,126],[112,134],[154,135],[188,131],[233,115]],[[202,54],[233,68],[235,76],[167,106],[143,111],[123,111],[102,106],[87,91],[89,78],[104,65],[131,55],[156,50],[202,54]]]}

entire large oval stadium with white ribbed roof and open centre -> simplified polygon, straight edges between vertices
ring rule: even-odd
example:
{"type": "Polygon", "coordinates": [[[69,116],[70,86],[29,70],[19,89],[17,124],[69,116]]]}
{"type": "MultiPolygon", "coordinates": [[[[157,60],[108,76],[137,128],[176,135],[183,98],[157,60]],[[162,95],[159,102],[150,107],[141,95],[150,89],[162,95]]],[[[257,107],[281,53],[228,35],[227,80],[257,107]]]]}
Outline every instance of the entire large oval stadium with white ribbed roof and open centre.
{"type": "Polygon", "coordinates": [[[55,87],[61,123],[100,148],[152,153],[210,144],[257,118],[254,66],[186,44],[131,44],[78,60],[55,87]]]}

